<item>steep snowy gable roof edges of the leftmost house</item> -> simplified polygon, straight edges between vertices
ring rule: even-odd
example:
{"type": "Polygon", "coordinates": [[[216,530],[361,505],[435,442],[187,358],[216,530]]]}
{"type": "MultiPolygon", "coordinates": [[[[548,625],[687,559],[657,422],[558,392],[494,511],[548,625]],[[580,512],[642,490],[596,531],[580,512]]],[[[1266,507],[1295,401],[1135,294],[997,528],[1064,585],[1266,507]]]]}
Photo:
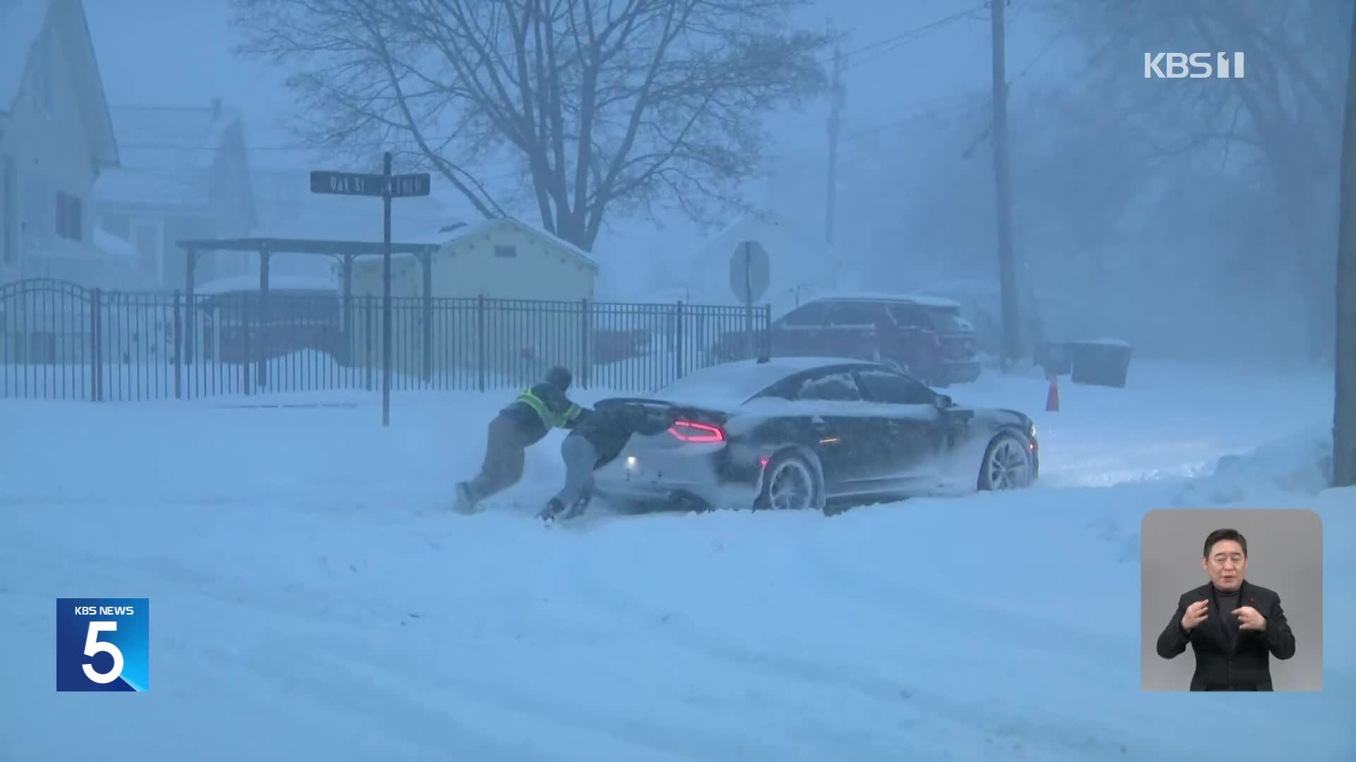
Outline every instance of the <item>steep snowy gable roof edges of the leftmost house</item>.
{"type": "Polygon", "coordinates": [[[71,66],[91,156],[98,167],[117,167],[118,141],[81,0],[0,0],[0,114],[14,108],[23,94],[33,53],[49,22],[65,42],[64,62],[71,66]]]}

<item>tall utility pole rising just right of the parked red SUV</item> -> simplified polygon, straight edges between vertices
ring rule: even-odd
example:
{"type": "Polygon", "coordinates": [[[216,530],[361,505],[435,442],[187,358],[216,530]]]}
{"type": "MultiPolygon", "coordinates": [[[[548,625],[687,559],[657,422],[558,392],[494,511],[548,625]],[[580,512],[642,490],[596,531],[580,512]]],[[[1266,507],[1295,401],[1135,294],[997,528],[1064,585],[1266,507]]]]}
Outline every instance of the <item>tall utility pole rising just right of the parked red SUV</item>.
{"type": "Polygon", "coordinates": [[[1021,357],[1021,323],[1017,315],[1017,267],[1013,262],[1013,205],[1008,165],[1008,66],[1003,38],[1003,4],[989,0],[993,12],[994,45],[994,190],[998,212],[998,287],[1003,312],[1003,367],[1021,357]]]}

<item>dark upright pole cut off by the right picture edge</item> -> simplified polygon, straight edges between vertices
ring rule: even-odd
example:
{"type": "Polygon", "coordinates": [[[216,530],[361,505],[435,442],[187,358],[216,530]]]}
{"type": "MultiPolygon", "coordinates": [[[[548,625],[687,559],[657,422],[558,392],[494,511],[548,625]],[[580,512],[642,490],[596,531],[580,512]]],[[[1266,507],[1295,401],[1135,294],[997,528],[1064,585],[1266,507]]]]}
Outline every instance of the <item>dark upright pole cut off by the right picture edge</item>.
{"type": "MultiPolygon", "coordinates": [[[[1352,20],[1356,46],[1356,19],[1352,20]]],[[[1347,54],[1341,221],[1337,232],[1337,342],[1333,353],[1333,487],[1356,484],[1356,47],[1347,54]]]]}

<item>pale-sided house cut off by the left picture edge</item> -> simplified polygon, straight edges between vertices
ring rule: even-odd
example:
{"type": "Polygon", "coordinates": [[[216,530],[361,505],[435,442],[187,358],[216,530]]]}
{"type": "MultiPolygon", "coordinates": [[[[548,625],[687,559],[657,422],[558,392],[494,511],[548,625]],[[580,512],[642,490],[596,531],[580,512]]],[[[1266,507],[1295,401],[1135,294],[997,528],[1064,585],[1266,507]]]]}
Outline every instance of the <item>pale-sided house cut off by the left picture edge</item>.
{"type": "Polygon", "coordinates": [[[89,213],[94,183],[117,165],[84,5],[0,3],[0,282],[133,285],[125,249],[99,245],[89,213]]]}

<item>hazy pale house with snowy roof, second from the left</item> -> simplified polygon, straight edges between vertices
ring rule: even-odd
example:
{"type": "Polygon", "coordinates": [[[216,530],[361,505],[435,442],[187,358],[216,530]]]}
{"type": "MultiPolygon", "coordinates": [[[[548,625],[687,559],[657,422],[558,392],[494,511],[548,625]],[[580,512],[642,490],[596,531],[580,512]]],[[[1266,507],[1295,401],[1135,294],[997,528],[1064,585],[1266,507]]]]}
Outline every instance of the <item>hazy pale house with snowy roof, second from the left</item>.
{"type": "MultiPolygon", "coordinates": [[[[241,114],[221,99],[110,108],[122,165],[95,183],[99,224],[136,248],[155,289],[183,289],[178,241],[248,236],[256,226],[241,114]]],[[[248,254],[213,252],[195,279],[243,275],[248,254]]]]}

